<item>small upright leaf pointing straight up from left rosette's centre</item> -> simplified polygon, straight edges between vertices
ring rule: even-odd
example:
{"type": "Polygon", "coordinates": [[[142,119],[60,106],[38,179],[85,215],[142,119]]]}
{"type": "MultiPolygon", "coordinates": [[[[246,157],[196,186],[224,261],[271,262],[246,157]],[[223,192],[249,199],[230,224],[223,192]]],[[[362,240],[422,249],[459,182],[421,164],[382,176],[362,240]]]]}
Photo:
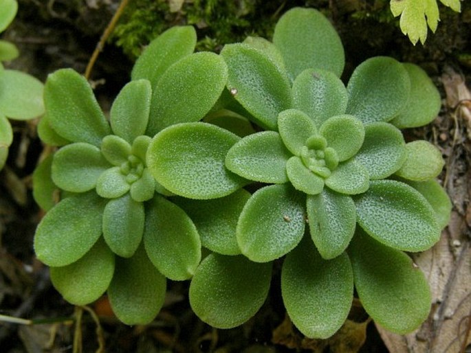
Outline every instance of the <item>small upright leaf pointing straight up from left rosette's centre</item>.
{"type": "Polygon", "coordinates": [[[129,144],[144,135],[151,110],[151,82],[148,80],[131,81],[122,88],[111,106],[110,119],[113,133],[129,144]]]}

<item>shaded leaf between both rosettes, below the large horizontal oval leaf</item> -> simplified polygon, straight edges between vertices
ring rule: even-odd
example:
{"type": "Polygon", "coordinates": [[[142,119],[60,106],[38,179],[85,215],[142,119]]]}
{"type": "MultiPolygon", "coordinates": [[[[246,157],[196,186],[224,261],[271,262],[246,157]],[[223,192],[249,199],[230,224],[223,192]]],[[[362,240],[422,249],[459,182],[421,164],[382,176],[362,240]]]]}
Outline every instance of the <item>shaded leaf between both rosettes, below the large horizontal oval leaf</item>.
{"type": "Polygon", "coordinates": [[[193,220],[204,247],[222,255],[238,255],[237,221],[249,198],[250,193],[241,189],[214,200],[177,197],[173,201],[193,220]]]}

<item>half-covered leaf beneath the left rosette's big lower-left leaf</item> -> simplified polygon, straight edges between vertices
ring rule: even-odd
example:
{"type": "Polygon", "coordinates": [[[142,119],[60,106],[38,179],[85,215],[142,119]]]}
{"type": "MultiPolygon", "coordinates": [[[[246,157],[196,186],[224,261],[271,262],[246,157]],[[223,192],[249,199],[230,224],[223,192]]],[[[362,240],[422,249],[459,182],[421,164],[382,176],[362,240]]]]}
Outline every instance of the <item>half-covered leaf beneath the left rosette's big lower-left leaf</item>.
{"type": "Polygon", "coordinates": [[[84,256],[63,267],[51,267],[54,287],[74,305],[95,301],[107,290],[114,273],[115,256],[98,240],[84,256]]]}

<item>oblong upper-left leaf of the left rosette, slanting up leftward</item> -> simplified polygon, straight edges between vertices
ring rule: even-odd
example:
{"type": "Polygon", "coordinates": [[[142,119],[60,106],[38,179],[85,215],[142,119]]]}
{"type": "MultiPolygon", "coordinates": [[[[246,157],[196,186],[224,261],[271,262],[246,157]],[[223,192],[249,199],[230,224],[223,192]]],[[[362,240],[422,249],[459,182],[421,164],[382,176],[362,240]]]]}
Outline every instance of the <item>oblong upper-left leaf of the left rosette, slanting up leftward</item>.
{"type": "Polygon", "coordinates": [[[72,69],[48,76],[44,104],[51,127],[69,141],[100,147],[111,128],[87,80],[72,69]]]}

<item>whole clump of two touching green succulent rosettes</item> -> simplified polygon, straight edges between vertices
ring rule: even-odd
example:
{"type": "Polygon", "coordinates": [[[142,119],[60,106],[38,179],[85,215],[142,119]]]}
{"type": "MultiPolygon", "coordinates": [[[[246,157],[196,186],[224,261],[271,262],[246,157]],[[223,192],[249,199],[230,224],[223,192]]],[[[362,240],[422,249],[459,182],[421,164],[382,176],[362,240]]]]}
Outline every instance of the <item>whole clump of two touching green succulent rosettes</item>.
{"type": "Polygon", "coordinates": [[[109,119],[78,73],[47,79],[39,134],[62,147],[34,173],[48,210],[34,247],[54,286],[79,305],[106,292],[136,324],[157,315],[166,279],[191,279],[195,313],[232,328],[282,261],[283,302],[307,337],[342,326],[354,287],[380,325],[417,328],[430,294],[403,251],[437,242],[450,201],[440,152],[399,128],[437,115],[430,78],[376,57],[345,85],[340,38],[314,9],[286,12],[272,42],[219,55],[195,43],[189,26],[155,39],[109,119]]]}

